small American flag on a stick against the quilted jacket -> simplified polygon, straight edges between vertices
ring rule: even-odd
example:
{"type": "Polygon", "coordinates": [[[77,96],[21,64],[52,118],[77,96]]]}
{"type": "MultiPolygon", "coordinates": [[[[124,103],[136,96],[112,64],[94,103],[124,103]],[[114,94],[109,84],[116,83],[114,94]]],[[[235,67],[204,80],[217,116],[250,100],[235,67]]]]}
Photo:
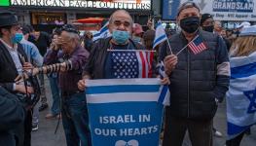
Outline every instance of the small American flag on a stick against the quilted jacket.
{"type": "Polygon", "coordinates": [[[194,55],[197,55],[207,49],[206,45],[204,44],[203,40],[199,35],[196,36],[196,39],[190,42],[188,46],[191,49],[191,51],[194,53],[194,55]]]}

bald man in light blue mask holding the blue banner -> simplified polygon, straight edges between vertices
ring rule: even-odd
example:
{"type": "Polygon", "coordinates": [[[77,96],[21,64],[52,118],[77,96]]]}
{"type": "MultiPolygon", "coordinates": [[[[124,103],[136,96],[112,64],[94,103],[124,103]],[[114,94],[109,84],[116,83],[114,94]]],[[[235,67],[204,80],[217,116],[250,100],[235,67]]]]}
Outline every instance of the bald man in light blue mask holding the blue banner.
{"type": "MultiPolygon", "coordinates": [[[[109,79],[111,75],[110,55],[107,50],[144,50],[144,47],[130,39],[133,20],[125,10],[116,11],[109,19],[109,31],[112,37],[100,39],[93,46],[84,78],[109,79]]],[[[80,87],[84,91],[84,80],[80,87]]]]}

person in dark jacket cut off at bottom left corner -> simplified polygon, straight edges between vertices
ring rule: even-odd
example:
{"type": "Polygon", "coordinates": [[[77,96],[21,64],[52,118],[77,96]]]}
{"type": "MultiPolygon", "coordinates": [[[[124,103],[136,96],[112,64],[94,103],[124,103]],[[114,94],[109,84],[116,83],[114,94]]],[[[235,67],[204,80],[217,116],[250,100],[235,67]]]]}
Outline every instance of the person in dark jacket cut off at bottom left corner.
{"type": "Polygon", "coordinates": [[[0,145],[22,145],[25,112],[18,97],[0,87],[0,145]]]}

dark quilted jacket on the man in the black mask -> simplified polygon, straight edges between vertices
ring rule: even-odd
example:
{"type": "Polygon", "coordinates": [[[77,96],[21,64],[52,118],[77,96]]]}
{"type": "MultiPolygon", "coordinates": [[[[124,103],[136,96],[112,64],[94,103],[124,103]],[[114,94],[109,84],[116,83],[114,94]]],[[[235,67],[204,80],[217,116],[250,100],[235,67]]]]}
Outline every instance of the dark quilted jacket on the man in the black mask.
{"type": "MultiPolygon", "coordinates": [[[[187,48],[178,55],[178,63],[169,76],[170,114],[189,119],[212,119],[217,109],[215,99],[223,100],[229,87],[230,64],[226,45],[221,37],[199,31],[207,49],[194,55],[187,48]]],[[[169,40],[176,55],[188,42],[182,33],[169,40]]],[[[169,55],[169,49],[161,51],[160,58],[169,55]]]]}

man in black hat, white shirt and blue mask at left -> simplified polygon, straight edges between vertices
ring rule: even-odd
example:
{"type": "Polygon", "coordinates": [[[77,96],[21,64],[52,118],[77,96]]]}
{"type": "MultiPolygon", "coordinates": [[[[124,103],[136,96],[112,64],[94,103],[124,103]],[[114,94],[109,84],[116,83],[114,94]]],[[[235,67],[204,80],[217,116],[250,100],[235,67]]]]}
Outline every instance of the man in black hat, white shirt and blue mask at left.
{"type": "MultiPolygon", "coordinates": [[[[26,100],[34,89],[25,88],[25,82],[17,83],[15,80],[23,70],[31,69],[32,65],[27,62],[27,57],[19,44],[22,34],[18,33],[18,29],[18,18],[9,11],[0,11],[0,86],[19,95],[19,99],[23,96],[22,99],[26,100]]],[[[31,145],[31,125],[31,109],[27,109],[22,133],[23,146],[31,145]]]]}

